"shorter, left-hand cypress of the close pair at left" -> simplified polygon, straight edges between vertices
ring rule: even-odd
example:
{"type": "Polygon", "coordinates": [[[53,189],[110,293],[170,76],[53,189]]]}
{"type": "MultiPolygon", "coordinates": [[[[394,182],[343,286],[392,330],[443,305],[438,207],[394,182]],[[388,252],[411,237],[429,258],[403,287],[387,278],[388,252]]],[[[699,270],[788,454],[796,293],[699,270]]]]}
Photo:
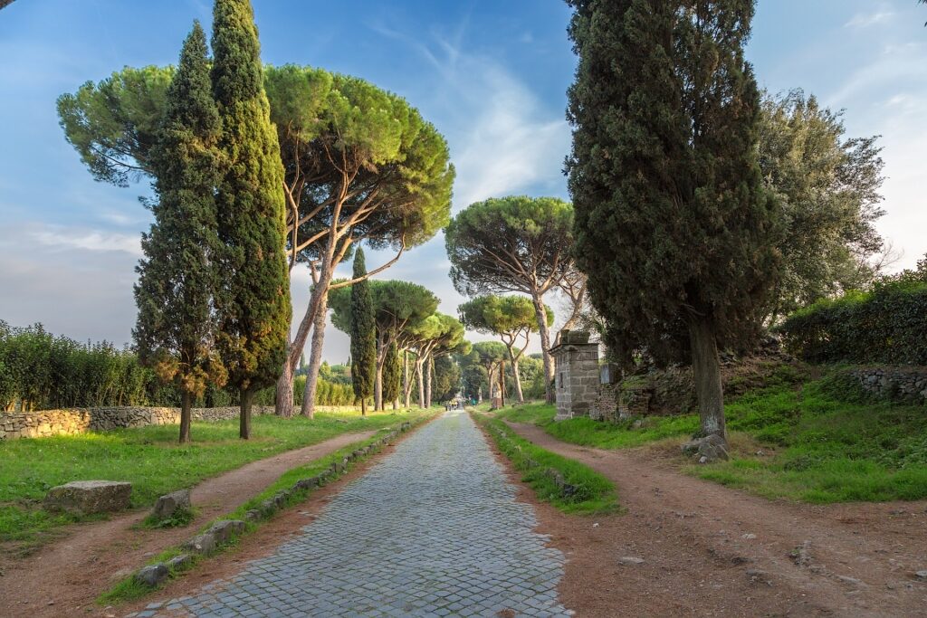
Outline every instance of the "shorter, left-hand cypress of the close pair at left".
{"type": "Polygon", "coordinates": [[[155,176],[155,222],[142,236],[145,258],[136,269],[139,355],[181,390],[180,441],[190,441],[191,400],[210,383],[223,385],[214,354],[218,248],[214,191],[219,113],[212,100],[206,34],[199,22],[184,42],[167,91],[165,117],[149,164],[155,176]]]}

